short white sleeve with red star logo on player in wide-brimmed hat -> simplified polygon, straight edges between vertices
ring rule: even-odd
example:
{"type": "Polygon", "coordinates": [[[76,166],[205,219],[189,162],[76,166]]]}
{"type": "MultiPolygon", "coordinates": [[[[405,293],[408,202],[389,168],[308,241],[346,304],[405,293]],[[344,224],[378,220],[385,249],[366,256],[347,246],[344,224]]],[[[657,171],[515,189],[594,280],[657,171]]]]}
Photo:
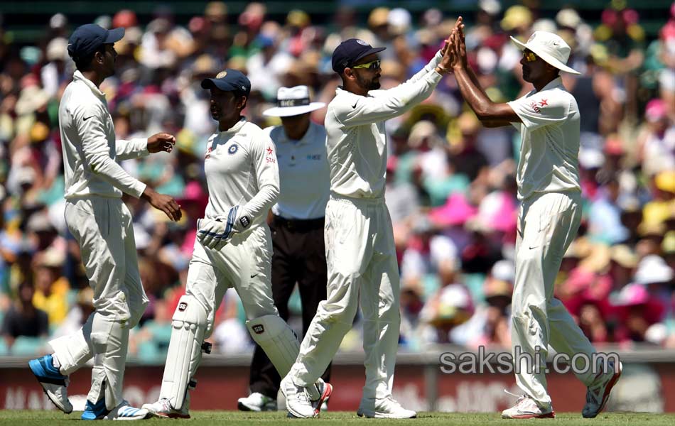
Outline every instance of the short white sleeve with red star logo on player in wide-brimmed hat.
{"type": "Polygon", "coordinates": [[[570,111],[567,97],[554,97],[549,91],[525,96],[508,104],[529,130],[565,121],[570,111]]]}

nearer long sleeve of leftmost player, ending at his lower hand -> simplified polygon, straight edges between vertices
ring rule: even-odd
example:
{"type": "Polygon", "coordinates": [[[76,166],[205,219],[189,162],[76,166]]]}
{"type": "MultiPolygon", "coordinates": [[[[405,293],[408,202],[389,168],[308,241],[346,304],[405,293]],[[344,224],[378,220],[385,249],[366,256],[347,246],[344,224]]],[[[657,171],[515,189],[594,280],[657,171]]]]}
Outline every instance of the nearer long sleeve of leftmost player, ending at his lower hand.
{"type": "Polygon", "coordinates": [[[101,118],[105,116],[104,114],[107,114],[107,111],[101,111],[95,105],[83,105],[75,109],[72,119],[77,126],[77,133],[82,137],[82,163],[85,170],[91,170],[122,192],[139,198],[146,185],[126,173],[110,157],[108,139],[101,118]]]}

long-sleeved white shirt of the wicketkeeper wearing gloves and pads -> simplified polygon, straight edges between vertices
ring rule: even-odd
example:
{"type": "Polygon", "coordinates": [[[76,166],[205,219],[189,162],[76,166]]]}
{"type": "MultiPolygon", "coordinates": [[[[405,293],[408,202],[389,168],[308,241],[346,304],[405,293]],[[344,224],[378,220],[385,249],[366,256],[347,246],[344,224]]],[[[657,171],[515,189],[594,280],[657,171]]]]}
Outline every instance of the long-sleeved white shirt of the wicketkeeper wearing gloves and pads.
{"type": "Polygon", "coordinates": [[[238,205],[248,216],[249,229],[265,222],[279,195],[279,168],[274,143],[242,116],[227,131],[213,133],[206,144],[204,171],[209,187],[205,217],[227,214],[238,205]]]}

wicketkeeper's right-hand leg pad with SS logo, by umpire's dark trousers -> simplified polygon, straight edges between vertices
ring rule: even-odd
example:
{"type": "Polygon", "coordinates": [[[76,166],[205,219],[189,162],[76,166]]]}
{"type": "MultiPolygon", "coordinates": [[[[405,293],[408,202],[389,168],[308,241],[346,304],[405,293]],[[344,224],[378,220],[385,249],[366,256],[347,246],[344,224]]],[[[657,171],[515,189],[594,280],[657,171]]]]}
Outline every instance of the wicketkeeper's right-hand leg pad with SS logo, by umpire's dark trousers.
{"type": "Polygon", "coordinates": [[[272,361],[279,376],[286,376],[300,352],[300,342],[291,327],[278,315],[264,315],[247,321],[246,327],[272,361]]]}

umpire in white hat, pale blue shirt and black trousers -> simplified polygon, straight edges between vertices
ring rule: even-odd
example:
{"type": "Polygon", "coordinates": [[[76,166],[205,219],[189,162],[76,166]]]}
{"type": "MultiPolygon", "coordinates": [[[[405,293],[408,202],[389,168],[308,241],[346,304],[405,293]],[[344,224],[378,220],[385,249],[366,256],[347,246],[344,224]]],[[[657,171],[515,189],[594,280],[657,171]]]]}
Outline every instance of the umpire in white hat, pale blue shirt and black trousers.
{"type": "MultiPolygon", "coordinates": [[[[288,299],[296,283],[303,307],[303,335],[316,308],[326,298],[326,259],[323,224],[330,195],[330,176],[326,158],[325,128],[310,121],[310,112],[325,107],[310,102],[307,86],[281,87],[277,107],[266,116],[281,117],[281,126],[264,131],[276,145],[279,162],[280,194],[272,207],[272,296],[279,315],[288,320],[288,299]]],[[[323,373],[330,378],[330,365],[323,373]]],[[[276,394],[281,377],[256,345],[251,365],[251,395],[239,398],[243,411],[276,410],[276,394]]]]}

